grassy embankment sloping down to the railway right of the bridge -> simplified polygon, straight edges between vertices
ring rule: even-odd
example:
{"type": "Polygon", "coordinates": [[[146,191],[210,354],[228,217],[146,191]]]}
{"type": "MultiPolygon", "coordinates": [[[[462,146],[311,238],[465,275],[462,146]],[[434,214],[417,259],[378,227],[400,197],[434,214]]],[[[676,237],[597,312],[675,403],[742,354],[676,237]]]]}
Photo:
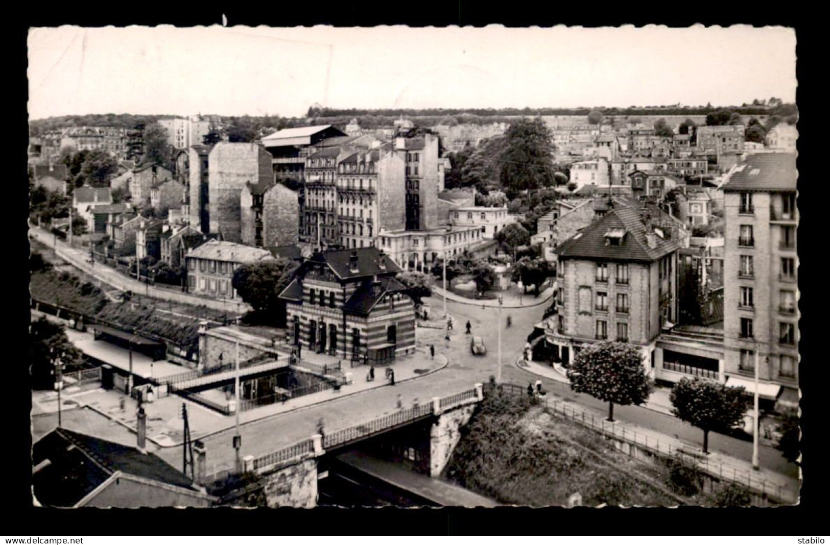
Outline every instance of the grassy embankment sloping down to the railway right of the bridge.
{"type": "Polygon", "coordinates": [[[505,504],[565,505],[577,492],[588,506],[749,503],[734,487],[706,494],[696,470],[634,460],[524,397],[486,397],[461,433],[445,476],[505,504]]]}

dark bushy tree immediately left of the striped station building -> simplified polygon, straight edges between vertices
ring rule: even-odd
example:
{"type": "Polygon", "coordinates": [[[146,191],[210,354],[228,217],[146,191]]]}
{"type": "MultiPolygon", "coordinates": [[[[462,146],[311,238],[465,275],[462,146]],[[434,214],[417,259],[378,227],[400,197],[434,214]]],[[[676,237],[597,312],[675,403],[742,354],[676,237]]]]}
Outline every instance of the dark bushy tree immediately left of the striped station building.
{"type": "Polygon", "coordinates": [[[242,300],[261,314],[276,313],[272,319],[285,319],[281,313],[285,312],[285,304],[278,295],[286,288],[291,280],[297,265],[292,260],[284,258],[247,263],[240,266],[233,273],[231,282],[233,289],[242,300]]]}

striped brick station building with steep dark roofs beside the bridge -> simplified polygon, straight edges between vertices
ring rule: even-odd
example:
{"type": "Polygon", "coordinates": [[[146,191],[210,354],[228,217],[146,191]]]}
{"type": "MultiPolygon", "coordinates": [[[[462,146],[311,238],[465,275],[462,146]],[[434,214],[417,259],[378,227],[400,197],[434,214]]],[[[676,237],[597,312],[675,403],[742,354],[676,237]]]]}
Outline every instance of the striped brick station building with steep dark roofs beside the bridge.
{"type": "Polygon", "coordinates": [[[318,353],[380,365],[415,349],[415,307],[376,248],[316,252],[280,298],[288,341],[318,353]]]}

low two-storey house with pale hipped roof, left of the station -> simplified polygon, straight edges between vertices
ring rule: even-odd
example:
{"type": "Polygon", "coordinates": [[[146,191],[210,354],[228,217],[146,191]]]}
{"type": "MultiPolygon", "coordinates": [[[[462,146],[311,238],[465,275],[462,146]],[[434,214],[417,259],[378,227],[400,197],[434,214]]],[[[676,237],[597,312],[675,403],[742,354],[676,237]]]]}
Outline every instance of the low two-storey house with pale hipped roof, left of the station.
{"type": "Polygon", "coordinates": [[[237,299],[233,273],[241,265],[273,260],[270,251],[234,242],[207,241],[186,255],[188,291],[224,299],[237,299]]]}

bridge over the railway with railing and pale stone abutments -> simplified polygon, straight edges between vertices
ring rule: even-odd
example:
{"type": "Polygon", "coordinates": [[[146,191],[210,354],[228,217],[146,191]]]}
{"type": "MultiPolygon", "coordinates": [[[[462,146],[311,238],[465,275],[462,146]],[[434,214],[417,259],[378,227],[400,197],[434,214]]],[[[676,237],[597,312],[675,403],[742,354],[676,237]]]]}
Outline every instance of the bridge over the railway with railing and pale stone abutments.
{"type": "MultiPolygon", "coordinates": [[[[382,449],[393,460],[437,477],[460,439],[461,426],[470,420],[482,399],[482,385],[477,383],[470,390],[433,397],[428,402],[325,436],[311,436],[258,458],[246,456],[242,471],[260,476],[268,507],[315,507],[318,466],[325,464],[327,457],[330,459],[358,444],[382,449]]],[[[196,480],[209,486],[219,475],[205,474],[206,453],[200,445],[196,445],[194,452],[196,480]]]]}

